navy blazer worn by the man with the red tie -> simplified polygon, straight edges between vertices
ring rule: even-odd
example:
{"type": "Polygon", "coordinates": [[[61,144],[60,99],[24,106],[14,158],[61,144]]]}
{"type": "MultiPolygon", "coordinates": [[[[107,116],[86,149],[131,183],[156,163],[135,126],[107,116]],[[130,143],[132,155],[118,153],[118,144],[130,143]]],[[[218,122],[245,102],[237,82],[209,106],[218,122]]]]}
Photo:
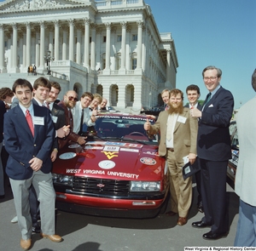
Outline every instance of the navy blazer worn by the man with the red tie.
{"type": "Polygon", "coordinates": [[[32,177],[33,170],[28,163],[32,157],[43,161],[41,171],[44,174],[48,174],[52,167],[50,152],[55,138],[54,124],[49,109],[33,105],[33,110],[35,117],[44,117],[44,125],[34,125],[34,138],[20,106],[15,106],[4,115],[4,143],[9,153],[6,174],[13,180],[32,177]]]}

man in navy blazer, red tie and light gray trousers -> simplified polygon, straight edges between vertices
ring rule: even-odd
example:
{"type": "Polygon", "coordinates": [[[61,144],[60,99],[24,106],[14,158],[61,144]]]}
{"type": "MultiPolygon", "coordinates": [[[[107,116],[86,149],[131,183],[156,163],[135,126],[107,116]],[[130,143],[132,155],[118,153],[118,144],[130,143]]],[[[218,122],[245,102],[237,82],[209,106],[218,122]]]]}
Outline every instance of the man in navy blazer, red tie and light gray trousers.
{"type": "Polygon", "coordinates": [[[55,235],[55,190],[50,173],[55,128],[49,110],[32,104],[31,83],[26,79],[17,79],[13,91],[19,105],[4,116],[4,141],[9,152],[6,173],[15,199],[21,231],[20,246],[27,250],[32,242],[32,217],[29,212],[31,185],[40,201],[41,236],[53,242],[62,240],[55,235]]]}

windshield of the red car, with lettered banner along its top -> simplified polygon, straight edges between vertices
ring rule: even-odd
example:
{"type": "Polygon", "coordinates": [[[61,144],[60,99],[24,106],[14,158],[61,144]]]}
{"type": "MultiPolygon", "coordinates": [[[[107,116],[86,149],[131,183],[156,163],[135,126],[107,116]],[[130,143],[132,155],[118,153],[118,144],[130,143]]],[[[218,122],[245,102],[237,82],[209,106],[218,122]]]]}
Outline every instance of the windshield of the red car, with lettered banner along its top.
{"type": "MultiPolygon", "coordinates": [[[[97,117],[96,126],[92,129],[95,136],[106,139],[128,140],[128,141],[143,141],[157,144],[157,135],[148,137],[144,130],[144,123],[147,117],[141,116],[113,116],[100,115],[97,117]]],[[[150,120],[150,123],[154,123],[150,120]]],[[[91,128],[89,128],[91,130],[91,128]]]]}

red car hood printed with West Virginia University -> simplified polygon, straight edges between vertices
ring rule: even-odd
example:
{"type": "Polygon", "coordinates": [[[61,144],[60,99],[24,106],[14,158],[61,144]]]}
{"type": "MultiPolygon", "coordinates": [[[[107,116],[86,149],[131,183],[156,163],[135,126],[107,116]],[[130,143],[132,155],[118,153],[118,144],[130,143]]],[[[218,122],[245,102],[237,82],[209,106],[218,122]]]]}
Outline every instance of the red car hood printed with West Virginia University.
{"type": "Polygon", "coordinates": [[[54,174],[113,180],[162,180],[167,172],[156,145],[89,141],[68,145],[53,165],[54,174]]]}

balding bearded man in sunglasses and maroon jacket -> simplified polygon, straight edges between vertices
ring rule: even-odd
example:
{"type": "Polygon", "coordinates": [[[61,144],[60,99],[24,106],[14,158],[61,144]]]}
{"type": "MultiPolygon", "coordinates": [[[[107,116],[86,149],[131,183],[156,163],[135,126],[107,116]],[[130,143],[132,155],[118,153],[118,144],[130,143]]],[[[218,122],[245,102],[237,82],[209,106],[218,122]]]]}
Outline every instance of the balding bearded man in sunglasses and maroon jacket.
{"type": "Polygon", "coordinates": [[[66,118],[66,125],[70,126],[70,134],[67,135],[67,138],[65,140],[59,139],[59,148],[61,149],[64,145],[67,144],[69,140],[72,140],[73,142],[79,143],[79,145],[85,144],[86,137],[82,137],[79,134],[75,134],[73,132],[73,115],[71,112],[71,109],[73,109],[74,106],[76,106],[76,103],[78,101],[78,94],[73,91],[69,90],[64,95],[63,100],[58,103],[61,108],[65,111],[65,118],[66,118]]]}

